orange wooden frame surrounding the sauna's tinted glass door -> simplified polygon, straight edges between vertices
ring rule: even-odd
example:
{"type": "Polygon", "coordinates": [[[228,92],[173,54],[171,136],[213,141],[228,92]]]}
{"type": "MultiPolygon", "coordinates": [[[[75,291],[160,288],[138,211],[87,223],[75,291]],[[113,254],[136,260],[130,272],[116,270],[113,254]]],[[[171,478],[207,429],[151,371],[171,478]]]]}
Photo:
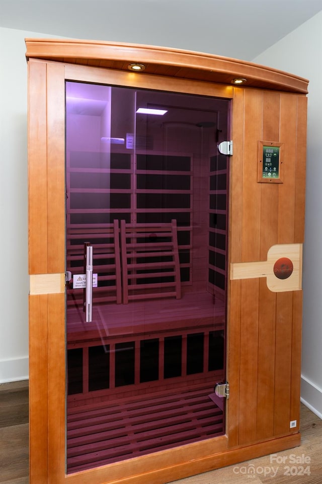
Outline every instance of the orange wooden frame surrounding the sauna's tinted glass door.
{"type": "MultiPolygon", "coordinates": [[[[160,91],[166,87],[166,91],[228,99],[232,101],[231,134],[234,125],[243,124],[243,88],[39,59],[29,59],[28,67],[30,483],[141,484],[144,476],[146,481],[156,484],[296,445],[298,433],[280,438],[279,444],[270,438],[255,445],[238,445],[237,384],[226,402],[225,435],[65,474],[65,80],[160,91]]],[[[240,130],[235,134],[240,141],[240,130]]],[[[233,192],[238,195],[240,185],[233,167],[229,180],[231,208],[233,192]]],[[[235,252],[239,245],[239,238],[235,237],[239,210],[232,208],[228,217],[227,261],[232,238],[235,252]],[[233,237],[232,217],[236,222],[233,237]]],[[[228,281],[228,307],[230,286],[228,281]]],[[[234,294],[235,298],[240,297],[238,289],[234,294]]],[[[238,382],[240,328],[230,324],[229,315],[233,316],[233,311],[227,311],[226,373],[229,381],[238,382]]]]}

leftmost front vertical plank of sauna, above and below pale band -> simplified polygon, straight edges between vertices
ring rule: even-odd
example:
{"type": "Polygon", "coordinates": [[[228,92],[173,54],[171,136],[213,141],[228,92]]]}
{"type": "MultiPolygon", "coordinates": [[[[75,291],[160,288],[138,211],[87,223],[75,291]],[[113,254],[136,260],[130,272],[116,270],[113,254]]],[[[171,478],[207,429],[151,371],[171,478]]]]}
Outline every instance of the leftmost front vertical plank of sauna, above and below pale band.
{"type": "MultiPolygon", "coordinates": [[[[29,274],[48,272],[46,64],[28,65],[29,274]],[[45,208],[44,208],[45,207],[45,208]]],[[[30,481],[48,478],[48,296],[29,296],[30,481]],[[41,411],[40,411],[41,408],[41,411]]]]}

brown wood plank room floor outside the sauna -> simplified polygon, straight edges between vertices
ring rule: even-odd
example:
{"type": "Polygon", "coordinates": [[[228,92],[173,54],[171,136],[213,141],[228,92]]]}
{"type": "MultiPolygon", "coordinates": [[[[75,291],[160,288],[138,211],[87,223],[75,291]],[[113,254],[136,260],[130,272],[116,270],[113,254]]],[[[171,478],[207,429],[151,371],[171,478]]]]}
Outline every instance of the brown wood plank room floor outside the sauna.
{"type": "MultiPolygon", "coordinates": [[[[173,481],[171,484],[320,484],[322,482],[322,420],[301,405],[301,445],[278,452],[285,464],[270,462],[271,456],[253,459],[203,474],[173,481]],[[309,464],[292,464],[309,459],[309,464]],[[293,458],[294,459],[294,458],[293,458]],[[286,466],[295,475],[287,474],[286,466]],[[274,467],[274,469],[273,469],[274,467]],[[275,476],[276,467],[278,471],[275,476]],[[301,472],[309,467],[308,473],[301,472]],[[255,469],[255,473],[248,471],[255,469]],[[265,469],[267,474],[265,475],[265,469]],[[301,475],[302,474],[302,475],[301,475]]],[[[28,382],[0,385],[0,483],[28,484],[28,382]]],[[[290,473],[291,473],[290,472],[290,473]]],[[[307,469],[308,472],[308,469],[307,469]]],[[[45,483],[44,483],[45,484],[45,483]]]]}

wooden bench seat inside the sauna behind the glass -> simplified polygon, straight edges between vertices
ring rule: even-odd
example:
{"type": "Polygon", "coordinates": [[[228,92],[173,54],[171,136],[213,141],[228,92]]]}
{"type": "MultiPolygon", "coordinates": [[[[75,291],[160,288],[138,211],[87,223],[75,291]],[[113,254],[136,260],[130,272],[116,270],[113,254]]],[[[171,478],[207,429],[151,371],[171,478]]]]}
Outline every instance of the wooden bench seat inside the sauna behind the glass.
{"type": "Polygon", "coordinates": [[[173,334],[182,329],[224,328],[225,305],[209,292],[184,293],[181,299],[131,301],[93,307],[92,322],[85,322],[81,308],[68,308],[67,344],[97,337],[118,338],[142,334],[173,334]]]}

